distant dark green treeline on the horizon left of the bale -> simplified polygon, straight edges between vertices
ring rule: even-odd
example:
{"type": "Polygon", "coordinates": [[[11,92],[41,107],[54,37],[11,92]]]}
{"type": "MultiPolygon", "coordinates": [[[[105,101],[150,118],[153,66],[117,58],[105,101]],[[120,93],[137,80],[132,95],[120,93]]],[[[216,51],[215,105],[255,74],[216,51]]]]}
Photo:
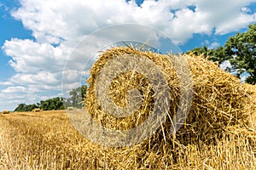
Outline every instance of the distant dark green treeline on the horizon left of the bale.
{"type": "Polygon", "coordinates": [[[69,92],[69,98],[56,97],[53,99],[41,100],[39,103],[32,105],[20,104],[15,108],[15,111],[32,111],[35,108],[40,108],[44,111],[64,110],[65,106],[82,108],[84,106],[83,101],[86,94],[86,90],[86,86],[73,88],[69,92]]]}

